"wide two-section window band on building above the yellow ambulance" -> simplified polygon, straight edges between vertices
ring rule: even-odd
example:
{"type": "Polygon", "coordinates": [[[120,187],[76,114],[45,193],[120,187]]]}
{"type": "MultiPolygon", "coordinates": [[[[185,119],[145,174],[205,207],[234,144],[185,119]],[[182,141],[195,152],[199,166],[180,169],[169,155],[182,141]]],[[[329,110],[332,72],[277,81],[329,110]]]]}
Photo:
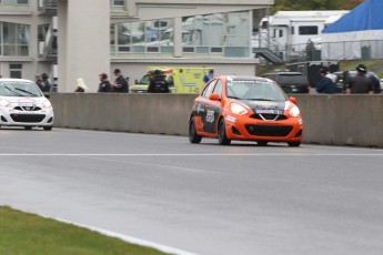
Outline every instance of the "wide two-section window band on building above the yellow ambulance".
{"type": "Polygon", "coordinates": [[[249,58],[251,17],[250,11],[183,17],[179,40],[174,19],[117,23],[110,30],[111,52],[169,55],[178,41],[188,55],[249,58]]]}

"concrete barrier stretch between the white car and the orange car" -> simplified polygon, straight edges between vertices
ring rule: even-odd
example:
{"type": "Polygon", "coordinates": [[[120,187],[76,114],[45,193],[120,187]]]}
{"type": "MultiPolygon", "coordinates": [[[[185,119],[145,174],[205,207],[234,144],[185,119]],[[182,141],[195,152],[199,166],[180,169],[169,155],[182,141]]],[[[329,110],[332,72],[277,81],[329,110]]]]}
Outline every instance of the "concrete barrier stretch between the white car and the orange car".
{"type": "Polygon", "coordinates": [[[188,134],[195,94],[52,93],[54,126],[188,134]]]}

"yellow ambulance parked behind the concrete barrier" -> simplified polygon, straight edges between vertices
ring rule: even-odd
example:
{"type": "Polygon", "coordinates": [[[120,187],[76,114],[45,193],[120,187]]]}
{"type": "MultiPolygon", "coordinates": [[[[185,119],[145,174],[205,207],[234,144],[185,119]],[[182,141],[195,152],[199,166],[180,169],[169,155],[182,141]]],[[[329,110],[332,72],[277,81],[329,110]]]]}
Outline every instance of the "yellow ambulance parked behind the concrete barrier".
{"type": "Polygon", "coordinates": [[[140,81],[130,86],[131,93],[147,93],[150,74],[160,70],[172,93],[200,93],[204,84],[214,76],[213,68],[148,67],[140,81]]]}

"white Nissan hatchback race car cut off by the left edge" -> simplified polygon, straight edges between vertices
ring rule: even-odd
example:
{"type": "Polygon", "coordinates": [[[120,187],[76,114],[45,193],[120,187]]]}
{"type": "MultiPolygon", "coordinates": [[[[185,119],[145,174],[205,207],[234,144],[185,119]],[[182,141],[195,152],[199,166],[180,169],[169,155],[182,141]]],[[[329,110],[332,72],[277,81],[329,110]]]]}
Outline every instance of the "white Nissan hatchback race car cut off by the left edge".
{"type": "Polygon", "coordinates": [[[52,130],[52,104],[30,80],[0,79],[0,126],[52,130]]]}

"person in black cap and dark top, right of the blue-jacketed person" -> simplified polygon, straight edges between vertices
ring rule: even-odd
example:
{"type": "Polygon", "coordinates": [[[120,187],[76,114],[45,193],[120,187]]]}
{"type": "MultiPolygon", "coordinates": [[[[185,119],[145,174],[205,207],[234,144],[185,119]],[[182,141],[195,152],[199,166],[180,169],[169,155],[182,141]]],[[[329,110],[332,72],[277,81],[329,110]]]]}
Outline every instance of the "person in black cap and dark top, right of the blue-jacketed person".
{"type": "Polygon", "coordinates": [[[357,74],[349,79],[346,93],[347,94],[372,94],[373,83],[365,75],[367,69],[364,64],[359,64],[356,67],[357,74]]]}

